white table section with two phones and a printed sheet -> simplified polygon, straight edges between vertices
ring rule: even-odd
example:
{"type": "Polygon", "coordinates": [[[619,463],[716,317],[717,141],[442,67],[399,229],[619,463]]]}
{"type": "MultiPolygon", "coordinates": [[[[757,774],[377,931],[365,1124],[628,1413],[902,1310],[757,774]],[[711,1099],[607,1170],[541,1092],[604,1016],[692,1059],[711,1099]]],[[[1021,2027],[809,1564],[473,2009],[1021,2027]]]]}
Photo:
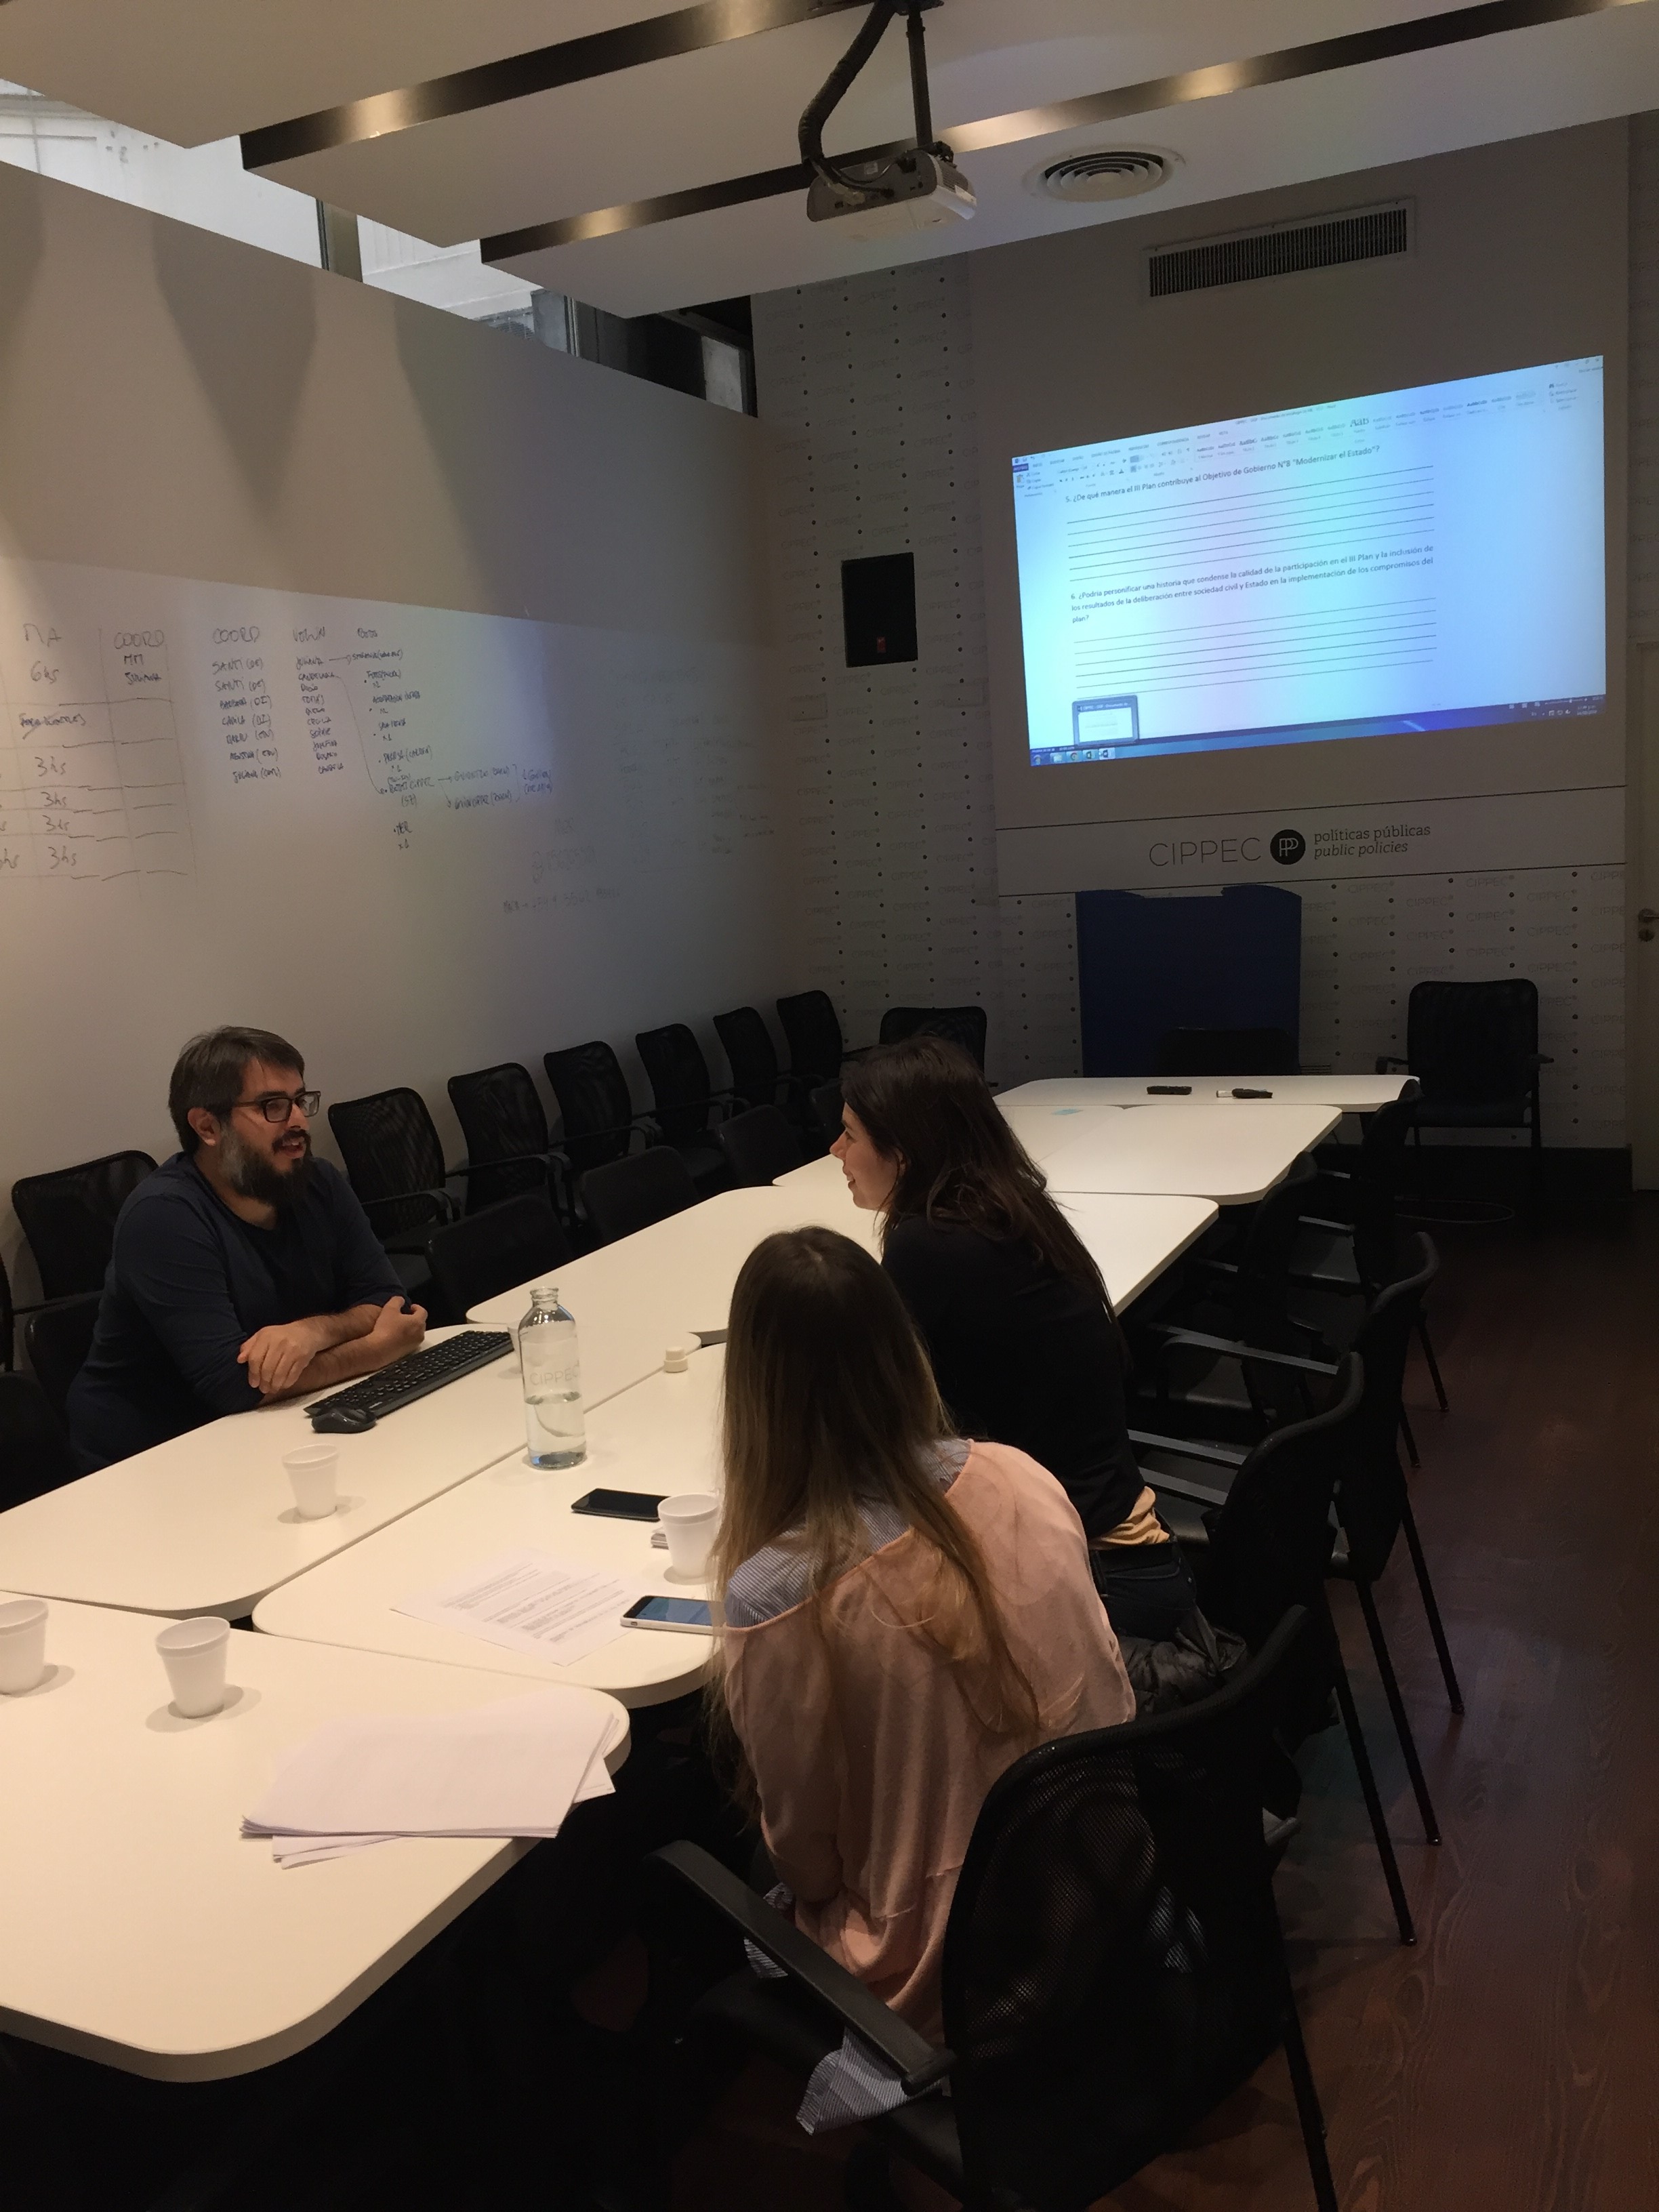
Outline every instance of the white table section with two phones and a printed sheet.
{"type": "Polygon", "coordinates": [[[686,1374],[648,1376],[588,1413],[588,1455],[580,1467],[538,1469],[526,1453],[405,1515],[378,1535],[336,1553],[310,1575],[261,1599],[254,1626],[274,1637],[403,1652],[456,1668],[491,1668],[606,1690],[624,1705],[655,1705],[695,1690],[708,1674],[714,1639],[679,1630],[622,1628],[571,1666],[504,1650],[458,1628],[394,1610],[436,1584],[482,1566],[502,1551],[544,1551],[573,1564],[635,1577],[666,1597],[706,1597],[708,1586],[677,1582],[668,1553],[655,1551],[650,1522],[571,1513],[584,1491],[719,1489],[717,1420],[723,1354],[695,1352],[686,1374]]]}

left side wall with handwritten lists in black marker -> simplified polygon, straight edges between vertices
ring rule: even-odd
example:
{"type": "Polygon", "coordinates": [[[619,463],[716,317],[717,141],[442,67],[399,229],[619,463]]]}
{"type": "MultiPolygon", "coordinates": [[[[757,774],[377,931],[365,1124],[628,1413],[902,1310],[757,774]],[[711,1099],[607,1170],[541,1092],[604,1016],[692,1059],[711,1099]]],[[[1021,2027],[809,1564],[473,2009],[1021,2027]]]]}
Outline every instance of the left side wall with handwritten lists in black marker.
{"type": "MultiPolygon", "coordinates": [[[[515,617],[535,679],[425,708],[453,768],[546,765],[526,770],[526,805],[507,810],[522,823],[498,847],[416,834],[376,927],[358,900],[389,865],[392,801],[365,783],[303,852],[281,832],[334,790],[310,790],[288,668],[281,810],[263,834],[243,814],[219,836],[237,801],[215,790],[192,810],[195,878],[164,909],[131,883],[0,878],[0,1188],[115,1146],[166,1148],[173,1053],[215,1020],[292,1033],[330,1097],[414,1084],[453,1144],[456,1071],[524,1060],[540,1079],[551,1046],[602,1033],[630,1051],[635,1029],[706,1024],[785,989],[763,445],[726,409],[0,168],[0,619],[60,591],[93,626],[131,619],[117,599],[184,624],[168,650],[190,781],[186,723],[206,706],[179,706],[181,686],[210,701],[215,670],[210,630],[188,626],[223,624],[215,608],[239,595],[403,608],[398,635],[440,657],[434,675],[451,675],[447,637],[515,617]],[[595,677],[606,668],[615,681],[595,677]],[[549,812],[560,783],[626,801],[573,825],[568,805],[549,812]],[[361,847],[358,867],[354,836],[385,847],[361,847]],[[520,860],[540,902],[507,914],[500,894],[529,878],[493,869],[520,860]],[[626,920],[582,902],[595,883],[626,920]],[[560,909],[566,889],[580,914],[560,909]]],[[[0,639],[13,721],[15,644],[0,639]]]]}

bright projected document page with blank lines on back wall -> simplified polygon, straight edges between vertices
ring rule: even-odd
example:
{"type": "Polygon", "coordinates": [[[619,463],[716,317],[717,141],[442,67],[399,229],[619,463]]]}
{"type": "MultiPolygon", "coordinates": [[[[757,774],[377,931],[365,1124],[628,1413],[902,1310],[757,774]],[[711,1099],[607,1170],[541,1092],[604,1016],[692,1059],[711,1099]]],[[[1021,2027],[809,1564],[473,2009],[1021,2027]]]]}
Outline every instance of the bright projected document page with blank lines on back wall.
{"type": "Polygon", "coordinates": [[[1595,714],[1601,361],[1013,462],[1033,765],[1595,714]]]}

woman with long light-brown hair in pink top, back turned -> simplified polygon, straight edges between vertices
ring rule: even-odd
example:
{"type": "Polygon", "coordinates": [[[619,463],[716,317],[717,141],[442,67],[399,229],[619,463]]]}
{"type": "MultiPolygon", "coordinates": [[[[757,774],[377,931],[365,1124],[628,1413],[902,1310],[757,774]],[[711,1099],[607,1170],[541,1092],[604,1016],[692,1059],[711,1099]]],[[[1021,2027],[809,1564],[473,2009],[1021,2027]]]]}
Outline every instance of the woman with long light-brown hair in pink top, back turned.
{"type": "Polygon", "coordinates": [[[1084,1531],[1024,1453],[951,1436],[898,1292],[834,1230],[743,1263],[723,1449],[717,1717],[799,1927],[938,2035],[991,1783],[1135,1714],[1084,1531]]]}

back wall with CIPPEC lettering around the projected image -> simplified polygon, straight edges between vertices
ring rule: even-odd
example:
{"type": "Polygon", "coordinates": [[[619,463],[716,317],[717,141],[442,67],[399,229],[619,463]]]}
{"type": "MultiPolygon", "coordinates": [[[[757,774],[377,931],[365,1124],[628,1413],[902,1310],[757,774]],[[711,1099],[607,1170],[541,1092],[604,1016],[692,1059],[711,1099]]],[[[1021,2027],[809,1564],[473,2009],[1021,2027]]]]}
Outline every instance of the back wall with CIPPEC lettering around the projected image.
{"type": "MultiPolygon", "coordinates": [[[[1599,776],[1624,781],[1624,144],[1621,124],[1597,126],[757,301],[761,418],[779,438],[779,644],[812,847],[814,980],[838,989],[849,1026],[869,1035],[883,1004],[938,975],[940,998],[973,995],[989,1006],[993,1075],[1009,1082],[1077,1066],[1071,896],[991,905],[1000,889],[987,854],[998,818],[993,712],[1015,765],[1024,745],[1011,529],[987,504],[991,493],[978,493],[973,471],[984,465],[987,487],[1006,507],[1009,451],[1604,352],[1617,697],[1599,719],[1595,754],[1599,776]],[[1407,270],[1241,285],[1248,299],[1210,323],[1217,296],[1126,305],[1152,237],[1201,237],[1400,192],[1418,201],[1420,246],[1407,270]],[[1164,305],[1175,312],[1157,321],[1164,305]],[[1557,336],[1559,349],[1548,352],[1557,336]],[[918,564],[922,657],[911,668],[847,670],[838,562],[907,544],[918,564]],[[878,818],[869,812],[876,776],[878,818]]],[[[1540,770],[1557,739],[1537,726],[1520,730],[1520,741],[1478,739],[1486,757],[1473,785],[1442,779],[1431,787],[1535,790],[1548,781],[1540,770]]],[[[1312,779],[1329,781],[1329,768],[1307,754],[1338,757],[1338,779],[1358,770],[1365,799],[1380,805],[1402,787],[1398,754],[1378,765],[1371,741],[1210,754],[1203,772],[1232,779],[1217,790],[1217,807],[1248,805],[1263,790],[1263,761],[1279,776],[1263,805],[1285,794],[1292,803],[1354,794],[1340,781],[1314,792],[1312,779]]],[[[1422,783],[1422,763],[1409,768],[1407,792],[1422,783]]],[[[1091,807],[1066,812],[1088,818],[1091,807]]],[[[1548,1141],[1621,1144],[1624,869],[1599,856],[1586,867],[1575,856],[1524,865],[1535,858],[1517,836],[1509,854],[1500,838],[1480,865],[1436,876],[1298,880],[1303,1064],[1365,1068],[1376,1053],[1402,1051],[1413,980],[1513,964],[1540,984],[1542,1048],[1555,1055],[1544,1091],[1548,1141]]]]}

